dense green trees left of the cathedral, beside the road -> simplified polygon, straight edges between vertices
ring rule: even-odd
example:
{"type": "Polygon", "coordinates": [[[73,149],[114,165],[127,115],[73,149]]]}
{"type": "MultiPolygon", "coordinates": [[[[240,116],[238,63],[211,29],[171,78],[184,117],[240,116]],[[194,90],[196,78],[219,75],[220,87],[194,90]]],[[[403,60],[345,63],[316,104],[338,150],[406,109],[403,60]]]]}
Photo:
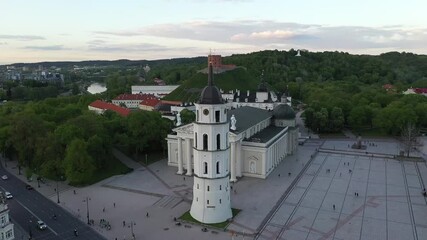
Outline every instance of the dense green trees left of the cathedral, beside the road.
{"type": "Polygon", "coordinates": [[[0,152],[16,156],[33,172],[80,185],[129,169],[111,154],[113,146],[129,153],[161,151],[172,122],[157,112],[135,111],[128,117],[90,112],[97,96],[8,102],[0,107],[0,152]]]}

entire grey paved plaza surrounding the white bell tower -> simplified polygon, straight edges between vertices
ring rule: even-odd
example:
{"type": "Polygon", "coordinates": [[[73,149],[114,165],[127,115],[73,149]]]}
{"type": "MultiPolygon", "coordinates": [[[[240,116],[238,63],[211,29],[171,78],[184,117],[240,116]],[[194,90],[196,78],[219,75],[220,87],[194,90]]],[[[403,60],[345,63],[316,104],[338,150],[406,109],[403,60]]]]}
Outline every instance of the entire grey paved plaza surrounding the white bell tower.
{"type": "MultiPolygon", "coordinates": [[[[366,150],[349,148],[353,142],[311,139],[267,179],[241,178],[231,197],[242,211],[226,231],[176,225],[174,218],[190,209],[193,178],[177,175],[166,160],[146,168],[118,151],[133,172],[84,188],[59,184],[60,204],[84,222],[89,208],[94,228],[113,240],[132,239],[132,233],[153,240],[427,239],[425,162],[393,159],[400,149],[394,140],[371,140],[366,144],[375,146],[366,150]]],[[[52,201],[55,188],[55,182],[36,187],[52,201]]]]}

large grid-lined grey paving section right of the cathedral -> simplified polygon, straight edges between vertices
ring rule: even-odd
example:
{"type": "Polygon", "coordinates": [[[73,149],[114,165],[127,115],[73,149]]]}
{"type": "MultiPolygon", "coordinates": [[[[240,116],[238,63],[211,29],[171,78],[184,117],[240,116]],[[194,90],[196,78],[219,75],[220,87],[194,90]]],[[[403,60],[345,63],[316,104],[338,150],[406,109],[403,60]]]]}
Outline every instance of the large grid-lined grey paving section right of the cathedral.
{"type": "Polygon", "coordinates": [[[365,156],[326,141],[257,239],[427,239],[425,162],[372,157],[396,142],[370,140],[365,156]]]}

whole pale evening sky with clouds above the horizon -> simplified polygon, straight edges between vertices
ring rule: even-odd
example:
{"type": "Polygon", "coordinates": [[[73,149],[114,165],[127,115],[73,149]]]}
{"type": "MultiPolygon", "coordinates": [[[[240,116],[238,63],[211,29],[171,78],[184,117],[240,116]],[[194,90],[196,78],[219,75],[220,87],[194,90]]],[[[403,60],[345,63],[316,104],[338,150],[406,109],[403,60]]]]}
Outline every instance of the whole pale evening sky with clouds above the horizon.
{"type": "Polygon", "coordinates": [[[0,64],[265,49],[427,54],[426,0],[0,0],[0,64]]]}

